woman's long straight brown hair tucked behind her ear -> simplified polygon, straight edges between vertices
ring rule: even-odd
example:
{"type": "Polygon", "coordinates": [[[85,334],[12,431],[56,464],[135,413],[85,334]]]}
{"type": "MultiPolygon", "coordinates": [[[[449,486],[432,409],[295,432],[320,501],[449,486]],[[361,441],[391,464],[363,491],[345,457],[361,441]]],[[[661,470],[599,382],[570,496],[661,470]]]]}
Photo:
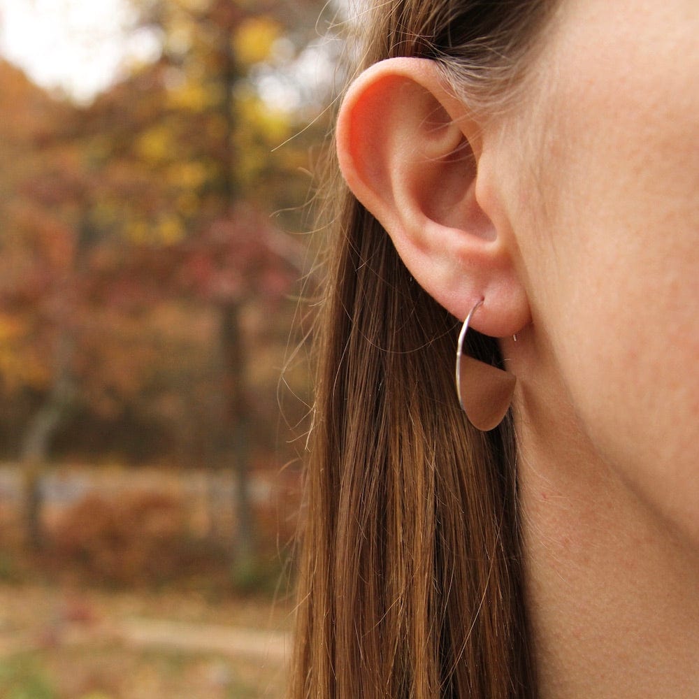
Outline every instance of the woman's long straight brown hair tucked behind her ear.
{"type": "MultiPolygon", "coordinates": [[[[548,5],[382,0],[359,68],[431,57],[457,94],[503,103],[548,5]]],[[[512,422],[468,424],[456,320],[333,192],[289,695],[533,697],[512,422]]]]}

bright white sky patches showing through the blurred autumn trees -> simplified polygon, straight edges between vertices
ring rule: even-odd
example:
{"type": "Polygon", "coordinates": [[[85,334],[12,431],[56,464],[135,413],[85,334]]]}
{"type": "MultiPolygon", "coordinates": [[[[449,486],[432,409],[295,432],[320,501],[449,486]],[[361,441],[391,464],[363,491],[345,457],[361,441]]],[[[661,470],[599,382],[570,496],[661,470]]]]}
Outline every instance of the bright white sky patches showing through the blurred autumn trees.
{"type": "MultiPolygon", "coordinates": [[[[123,66],[159,55],[156,36],[129,31],[133,20],[124,0],[0,0],[0,57],[37,85],[88,103],[123,66]]],[[[291,62],[282,56],[275,66],[261,66],[261,96],[280,110],[323,101],[334,59],[332,43],[319,38],[291,62]]]]}

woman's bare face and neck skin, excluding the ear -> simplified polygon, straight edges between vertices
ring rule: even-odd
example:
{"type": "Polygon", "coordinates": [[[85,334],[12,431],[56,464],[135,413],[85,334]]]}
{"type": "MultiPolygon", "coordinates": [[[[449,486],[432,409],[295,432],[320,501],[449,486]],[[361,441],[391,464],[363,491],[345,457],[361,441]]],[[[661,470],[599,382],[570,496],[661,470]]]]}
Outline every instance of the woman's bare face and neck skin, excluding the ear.
{"type": "Polygon", "coordinates": [[[501,182],[542,696],[699,696],[698,29],[691,1],[563,3],[535,206],[501,182]]]}

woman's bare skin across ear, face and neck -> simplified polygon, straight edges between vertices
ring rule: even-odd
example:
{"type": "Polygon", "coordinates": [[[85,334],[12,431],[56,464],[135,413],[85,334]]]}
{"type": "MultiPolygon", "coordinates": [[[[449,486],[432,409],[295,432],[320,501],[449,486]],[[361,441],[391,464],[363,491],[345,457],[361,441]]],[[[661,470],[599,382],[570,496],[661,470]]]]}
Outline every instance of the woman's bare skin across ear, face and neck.
{"type": "Polygon", "coordinates": [[[543,698],[699,696],[698,34],[696,0],[563,0],[507,115],[423,59],[340,113],[345,178],[415,278],[517,333],[543,698]]]}

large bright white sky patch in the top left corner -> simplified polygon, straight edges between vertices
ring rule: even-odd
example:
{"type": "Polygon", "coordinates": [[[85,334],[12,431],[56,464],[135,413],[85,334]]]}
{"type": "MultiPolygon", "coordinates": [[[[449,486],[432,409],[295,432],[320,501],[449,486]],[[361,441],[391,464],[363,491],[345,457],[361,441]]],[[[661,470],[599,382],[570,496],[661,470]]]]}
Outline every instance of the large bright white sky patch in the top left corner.
{"type": "Polygon", "coordinates": [[[127,33],[123,0],[0,0],[0,55],[42,87],[89,101],[120,66],[152,59],[157,41],[127,33]]]}

